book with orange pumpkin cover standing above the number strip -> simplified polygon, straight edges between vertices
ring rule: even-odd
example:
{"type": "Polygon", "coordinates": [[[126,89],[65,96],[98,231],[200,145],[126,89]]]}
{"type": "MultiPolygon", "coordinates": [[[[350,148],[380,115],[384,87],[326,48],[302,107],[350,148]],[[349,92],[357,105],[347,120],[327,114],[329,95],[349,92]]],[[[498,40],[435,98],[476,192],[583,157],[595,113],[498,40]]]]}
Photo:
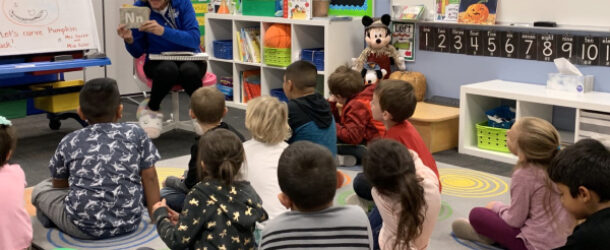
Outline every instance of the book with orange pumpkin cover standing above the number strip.
{"type": "Polygon", "coordinates": [[[496,24],[498,0],[462,0],[458,23],[496,24]]]}

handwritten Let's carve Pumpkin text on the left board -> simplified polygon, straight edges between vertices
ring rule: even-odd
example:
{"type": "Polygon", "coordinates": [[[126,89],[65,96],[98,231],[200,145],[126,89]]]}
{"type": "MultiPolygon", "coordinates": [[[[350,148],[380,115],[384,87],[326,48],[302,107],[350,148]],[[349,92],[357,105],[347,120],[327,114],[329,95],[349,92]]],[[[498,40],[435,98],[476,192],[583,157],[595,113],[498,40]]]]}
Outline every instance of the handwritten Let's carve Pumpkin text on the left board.
{"type": "Polygon", "coordinates": [[[48,35],[59,35],[57,42],[60,44],[64,43],[66,48],[81,48],[91,45],[89,42],[91,35],[89,33],[79,32],[77,27],[66,25],[22,31],[0,30],[0,49],[14,48],[15,43],[18,43],[19,39],[43,37],[48,35]]]}

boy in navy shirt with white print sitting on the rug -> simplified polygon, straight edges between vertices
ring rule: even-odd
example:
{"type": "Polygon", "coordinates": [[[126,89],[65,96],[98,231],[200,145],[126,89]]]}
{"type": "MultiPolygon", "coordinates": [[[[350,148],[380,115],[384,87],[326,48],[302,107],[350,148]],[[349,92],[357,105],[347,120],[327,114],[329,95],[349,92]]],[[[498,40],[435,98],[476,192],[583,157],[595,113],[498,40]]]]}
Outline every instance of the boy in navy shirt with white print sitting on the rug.
{"type": "Polygon", "coordinates": [[[140,126],[117,123],[123,105],[115,80],[88,81],[79,104],[77,113],[90,125],[57,146],[49,162],[52,178],[32,192],[37,217],[81,239],[131,233],[142,218],[142,199],[151,214],[159,201],[159,152],[140,126]]]}

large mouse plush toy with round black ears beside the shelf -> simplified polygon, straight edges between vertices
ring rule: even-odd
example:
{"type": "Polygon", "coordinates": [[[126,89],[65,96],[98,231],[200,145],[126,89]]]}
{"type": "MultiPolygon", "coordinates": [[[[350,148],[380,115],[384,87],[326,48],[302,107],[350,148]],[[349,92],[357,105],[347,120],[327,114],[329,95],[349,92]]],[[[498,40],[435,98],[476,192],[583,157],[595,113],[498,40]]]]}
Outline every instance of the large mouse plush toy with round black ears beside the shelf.
{"type": "Polygon", "coordinates": [[[364,36],[368,46],[356,60],[354,70],[362,71],[365,63],[374,62],[387,72],[384,76],[384,79],[387,79],[392,72],[390,68],[392,62],[399,70],[406,69],[404,58],[390,44],[392,41],[392,33],[389,28],[390,21],[391,17],[388,14],[384,14],[380,19],[373,19],[369,16],[362,17],[364,36]]]}

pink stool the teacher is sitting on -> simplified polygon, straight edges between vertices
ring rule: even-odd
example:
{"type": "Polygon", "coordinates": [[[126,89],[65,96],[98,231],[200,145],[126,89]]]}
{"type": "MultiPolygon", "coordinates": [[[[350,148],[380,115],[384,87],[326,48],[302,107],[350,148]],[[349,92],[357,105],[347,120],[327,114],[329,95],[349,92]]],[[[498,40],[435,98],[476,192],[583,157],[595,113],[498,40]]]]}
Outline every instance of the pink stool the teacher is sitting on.
{"type": "MultiPolygon", "coordinates": [[[[144,63],[146,62],[146,55],[142,55],[140,58],[134,60],[134,78],[136,81],[145,84],[148,89],[152,87],[152,80],[146,77],[144,73],[144,63]]],[[[202,86],[215,86],[216,75],[210,72],[206,72],[203,79],[201,79],[202,86]]],[[[189,119],[188,121],[180,121],[180,96],[179,93],[182,90],[182,86],[174,85],[171,93],[172,98],[172,112],[170,113],[170,119],[163,122],[163,128],[161,134],[172,131],[174,129],[182,129],[187,131],[195,131],[193,122],[189,119]]],[[[146,97],[146,92],[143,92],[146,97]]]]}

